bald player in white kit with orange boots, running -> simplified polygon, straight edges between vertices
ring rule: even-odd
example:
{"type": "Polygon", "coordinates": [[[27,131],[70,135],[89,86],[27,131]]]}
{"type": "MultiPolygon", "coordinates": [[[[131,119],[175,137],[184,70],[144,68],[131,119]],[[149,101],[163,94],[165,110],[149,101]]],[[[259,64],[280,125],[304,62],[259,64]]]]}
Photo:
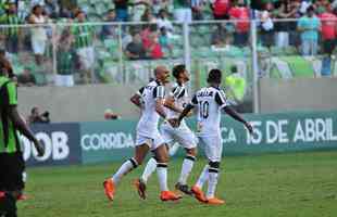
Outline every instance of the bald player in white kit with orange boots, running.
{"type": "Polygon", "coordinates": [[[158,66],[154,69],[155,80],[139,89],[139,92],[132,97],[130,101],[142,108],[140,120],[137,126],[136,153],[134,157],[126,161],[120,169],[104,181],[104,190],[109,200],[114,199],[115,188],[122,177],[140,165],[149,150],[154,153],[157,159],[157,174],[161,190],[160,199],[162,201],[176,201],[182,196],[176,195],[167,187],[167,150],[165,143],[159,133],[158,123],[160,116],[166,122],[164,101],[164,85],[168,81],[168,71],[165,66],[158,66]],[[141,100],[143,103],[141,103],[141,100]]]}

